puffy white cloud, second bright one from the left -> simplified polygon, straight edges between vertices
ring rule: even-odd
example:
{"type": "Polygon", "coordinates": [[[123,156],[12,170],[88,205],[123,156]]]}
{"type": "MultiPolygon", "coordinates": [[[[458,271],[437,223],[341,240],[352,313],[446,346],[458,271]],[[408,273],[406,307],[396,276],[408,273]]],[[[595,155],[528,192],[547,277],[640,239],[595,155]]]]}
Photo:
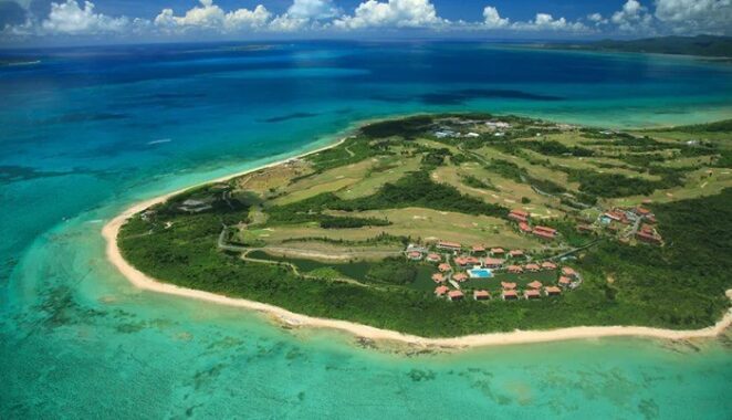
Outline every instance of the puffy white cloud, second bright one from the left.
{"type": "Polygon", "coordinates": [[[213,4],[213,0],[199,0],[184,15],[175,15],[172,9],[163,9],[155,18],[155,25],[163,31],[212,30],[217,32],[234,32],[243,29],[262,29],[272,19],[272,13],[262,4],[253,10],[237,9],[224,12],[213,4]]]}

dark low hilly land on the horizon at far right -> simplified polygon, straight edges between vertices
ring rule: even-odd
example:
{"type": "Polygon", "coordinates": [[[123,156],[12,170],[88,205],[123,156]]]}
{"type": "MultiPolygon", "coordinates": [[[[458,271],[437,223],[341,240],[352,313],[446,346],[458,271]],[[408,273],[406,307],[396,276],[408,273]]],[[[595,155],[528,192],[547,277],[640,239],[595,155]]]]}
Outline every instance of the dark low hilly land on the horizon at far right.
{"type": "Polygon", "coordinates": [[[699,55],[712,57],[732,57],[732,38],[698,35],[698,36],[660,36],[641,40],[603,40],[590,43],[554,43],[542,48],[572,49],[587,51],[614,51],[635,53],[657,53],[677,55],[699,55]]]}

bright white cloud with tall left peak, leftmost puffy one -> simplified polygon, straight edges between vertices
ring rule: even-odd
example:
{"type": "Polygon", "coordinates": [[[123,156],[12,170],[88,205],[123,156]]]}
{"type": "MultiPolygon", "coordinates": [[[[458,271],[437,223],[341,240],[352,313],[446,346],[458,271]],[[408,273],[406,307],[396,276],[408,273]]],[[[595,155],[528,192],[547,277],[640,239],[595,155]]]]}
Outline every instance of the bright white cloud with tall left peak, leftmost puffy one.
{"type": "Polygon", "coordinates": [[[121,33],[130,24],[126,17],[111,18],[94,13],[91,1],[84,2],[82,8],[76,0],[66,0],[65,3],[51,3],[51,12],[41,28],[48,34],[100,34],[121,33]]]}

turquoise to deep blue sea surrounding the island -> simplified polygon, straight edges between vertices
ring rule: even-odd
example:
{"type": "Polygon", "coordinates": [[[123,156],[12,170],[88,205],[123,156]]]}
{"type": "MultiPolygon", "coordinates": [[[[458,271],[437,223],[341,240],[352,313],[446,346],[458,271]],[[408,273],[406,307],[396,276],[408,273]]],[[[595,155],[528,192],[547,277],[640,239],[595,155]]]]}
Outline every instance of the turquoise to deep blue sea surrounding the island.
{"type": "Polygon", "coordinates": [[[732,65],[482,43],[0,52],[0,418],[732,418],[732,338],[374,349],[140,292],[103,224],[136,201],[415,112],[605,127],[732,117],[732,65]],[[27,63],[27,64],[21,64],[27,63]]]}

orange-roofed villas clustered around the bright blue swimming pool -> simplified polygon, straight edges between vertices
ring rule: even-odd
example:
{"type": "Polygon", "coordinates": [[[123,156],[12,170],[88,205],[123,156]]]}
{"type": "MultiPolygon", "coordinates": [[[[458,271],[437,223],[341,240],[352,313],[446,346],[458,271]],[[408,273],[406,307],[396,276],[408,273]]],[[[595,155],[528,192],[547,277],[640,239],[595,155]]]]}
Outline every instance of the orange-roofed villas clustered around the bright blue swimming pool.
{"type": "MultiPolygon", "coordinates": [[[[460,301],[466,297],[461,285],[471,279],[489,279],[495,272],[509,274],[555,272],[560,267],[551,261],[527,262],[521,250],[504,250],[502,248],[487,249],[483,245],[473,245],[469,253],[463,253],[463,246],[458,242],[440,241],[435,245],[437,252],[410,244],[406,250],[407,259],[411,261],[427,261],[437,264],[438,272],[432,274],[437,284],[435,295],[447,297],[450,301],[460,301]],[[439,251],[447,251],[440,254],[439,251]],[[443,256],[445,255],[445,256],[443,256]],[[452,288],[450,287],[452,286],[452,288]]],[[[517,290],[516,283],[501,282],[501,298],[504,301],[540,298],[542,296],[557,296],[563,290],[575,288],[582,277],[572,267],[562,267],[556,284],[545,285],[533,281],[523,291],[517,290]]],[[[475,301],[490,300],[491,293],[485,290],[473,290],[475,301]]]]}

